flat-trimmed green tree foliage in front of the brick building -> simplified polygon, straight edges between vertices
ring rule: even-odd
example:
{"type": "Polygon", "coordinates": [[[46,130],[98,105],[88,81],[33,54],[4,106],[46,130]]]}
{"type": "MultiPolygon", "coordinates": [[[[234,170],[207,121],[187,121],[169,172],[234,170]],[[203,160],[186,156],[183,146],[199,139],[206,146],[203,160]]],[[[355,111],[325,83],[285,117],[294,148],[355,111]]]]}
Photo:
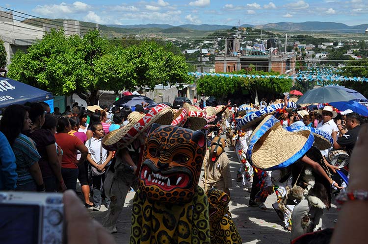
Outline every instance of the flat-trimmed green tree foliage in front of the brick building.
{"type": "MultiPolygon", "coordinates": [[[[255,70],[240,70],[236,74],[254,74],[254,75],[278,75],[277,72],[263,72],[255,70]]],[[[233,73],[234,74],[234,73],[233,73]]],[[[280,94],[290,91],[292,86],[291,79],[283,78],[248,78],[248,77],[224,77],[224,76],[204,76],[197,81],[197,91],[205,93],[208,96],[217,98],[234,94],[240,89],[248,89],[251,94],[255,95],[256,91],[263,92],[268,95],[280,94]]]]}

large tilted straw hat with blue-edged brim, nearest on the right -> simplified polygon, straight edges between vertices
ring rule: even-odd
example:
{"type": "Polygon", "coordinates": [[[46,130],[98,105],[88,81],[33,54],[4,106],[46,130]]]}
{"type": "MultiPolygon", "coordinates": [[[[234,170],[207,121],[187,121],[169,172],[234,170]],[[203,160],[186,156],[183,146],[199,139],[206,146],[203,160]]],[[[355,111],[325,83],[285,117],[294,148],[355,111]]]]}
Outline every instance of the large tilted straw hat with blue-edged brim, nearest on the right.
{"type": "Polygon", "coordinates": [[[278,119],[268,115],[253,131],[247,157],[259,169],[277,170],[300,159],[313,142],[311,131],[289,132],[278,119]]]}

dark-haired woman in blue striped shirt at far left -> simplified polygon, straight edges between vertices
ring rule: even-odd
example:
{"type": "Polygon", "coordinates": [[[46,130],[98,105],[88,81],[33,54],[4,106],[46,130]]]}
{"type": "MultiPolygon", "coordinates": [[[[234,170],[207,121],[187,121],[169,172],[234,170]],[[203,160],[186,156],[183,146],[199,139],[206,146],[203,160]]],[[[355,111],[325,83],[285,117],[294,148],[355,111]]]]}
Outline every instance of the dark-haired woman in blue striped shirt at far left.
{"type": "Polygon", "coordinates": [[[38,165],[41,158],[33,141],[25,134],[32,122],[27,108],[13,104],[5,109],[0,122],[0,131],[5,135],[15,154],[17,164],[17,189],[19,191],[44,191],[45,185],[38,165]]]}

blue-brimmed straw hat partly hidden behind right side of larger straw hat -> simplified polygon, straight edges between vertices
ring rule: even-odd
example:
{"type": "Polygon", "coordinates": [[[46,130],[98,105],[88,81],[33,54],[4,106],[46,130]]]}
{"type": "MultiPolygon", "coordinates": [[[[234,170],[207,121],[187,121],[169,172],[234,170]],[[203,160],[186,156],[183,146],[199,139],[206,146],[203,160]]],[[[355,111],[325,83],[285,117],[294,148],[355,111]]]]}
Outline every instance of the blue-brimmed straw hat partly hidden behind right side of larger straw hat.
{"type": "Polygon", "coordinates": [[[329,149],[333,144],[334,140],[332,139],[331,135],[323,130],[319,130],[313,127],[308,126],[288,126],[285,127],[286,130],[290,132],[296,132],[301,130],[309,130],[313,133],[315,137],[315,143],[313,146],[317,147],[319,150],[326,150],[329,149]]]}

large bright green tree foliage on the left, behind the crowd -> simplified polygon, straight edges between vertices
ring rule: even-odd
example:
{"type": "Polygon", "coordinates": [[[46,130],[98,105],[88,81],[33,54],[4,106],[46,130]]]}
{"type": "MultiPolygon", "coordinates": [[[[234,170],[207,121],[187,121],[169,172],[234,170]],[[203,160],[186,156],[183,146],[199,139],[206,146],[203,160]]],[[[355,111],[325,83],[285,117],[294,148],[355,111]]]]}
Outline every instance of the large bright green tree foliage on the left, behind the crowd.
{"type": "Polygon", "coordinates": [[[77,93],[88,104],[97,104],[99,90],[135,90],[157,84],[190,83],[183,55],[169,46],[141,43],[112,45],[98,30],[84,37],[66,37],[53,30],[27,49],[18,51],[9,66],[9,77],[48,90],[54,95],[77,93]]]}

